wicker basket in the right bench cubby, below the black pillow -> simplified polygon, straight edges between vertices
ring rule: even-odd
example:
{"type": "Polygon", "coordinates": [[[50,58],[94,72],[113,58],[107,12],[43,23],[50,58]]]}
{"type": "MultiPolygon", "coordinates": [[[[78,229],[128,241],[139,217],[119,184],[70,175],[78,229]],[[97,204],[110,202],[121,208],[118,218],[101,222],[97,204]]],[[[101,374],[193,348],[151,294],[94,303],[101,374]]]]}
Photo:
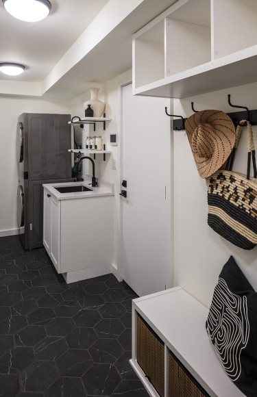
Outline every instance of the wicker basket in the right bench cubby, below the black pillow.
{"type": "Polygon", "coordinates": [[[171,352],[169,352],[169,397],[210,397],[171,352]]]}

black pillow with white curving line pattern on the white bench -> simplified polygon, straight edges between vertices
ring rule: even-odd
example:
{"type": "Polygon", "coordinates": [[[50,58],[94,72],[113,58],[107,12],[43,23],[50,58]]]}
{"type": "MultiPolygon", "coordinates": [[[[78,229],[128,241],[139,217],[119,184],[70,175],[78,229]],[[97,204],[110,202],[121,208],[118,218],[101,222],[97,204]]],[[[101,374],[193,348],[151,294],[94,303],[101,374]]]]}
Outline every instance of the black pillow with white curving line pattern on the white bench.
{"type": "Polygon", "coordinates": [[[230,379],[257,397],[257,293],[232,256],[219,274],[206,330],[230,379]]]}

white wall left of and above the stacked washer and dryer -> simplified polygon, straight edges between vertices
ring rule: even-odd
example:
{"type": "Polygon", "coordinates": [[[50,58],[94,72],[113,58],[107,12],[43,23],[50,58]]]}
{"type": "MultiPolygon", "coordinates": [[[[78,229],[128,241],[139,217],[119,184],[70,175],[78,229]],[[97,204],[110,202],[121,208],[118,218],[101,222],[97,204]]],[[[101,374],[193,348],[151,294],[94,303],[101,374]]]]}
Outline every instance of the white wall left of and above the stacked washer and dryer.
{"type": "Polygon", "coordinates": [[[0,236],[16,234],[16,125],[25,112],[70,114],[71,101],[0,97],[0,236]]]}

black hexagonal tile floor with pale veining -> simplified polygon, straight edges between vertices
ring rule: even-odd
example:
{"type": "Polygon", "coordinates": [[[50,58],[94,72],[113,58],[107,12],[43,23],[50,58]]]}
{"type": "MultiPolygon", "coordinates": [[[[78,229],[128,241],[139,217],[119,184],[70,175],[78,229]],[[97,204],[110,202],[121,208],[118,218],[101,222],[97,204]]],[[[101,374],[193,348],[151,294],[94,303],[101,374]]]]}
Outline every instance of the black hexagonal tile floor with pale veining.
{"type": "Polygon", "coordinates": [[[129,363],[133,298],[112,274],[67,285],[44,248],[0,238],[1,397],[147,397],[129,363]]]}

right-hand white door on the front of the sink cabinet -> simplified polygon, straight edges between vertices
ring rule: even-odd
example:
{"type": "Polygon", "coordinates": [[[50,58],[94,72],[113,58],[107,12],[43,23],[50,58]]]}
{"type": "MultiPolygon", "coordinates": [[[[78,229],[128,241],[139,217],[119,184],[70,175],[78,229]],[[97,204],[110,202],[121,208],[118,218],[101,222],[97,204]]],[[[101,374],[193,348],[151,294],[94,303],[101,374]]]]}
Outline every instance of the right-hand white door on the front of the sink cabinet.
{"type": "Polygon", "coordinates": [[[60,273],[60,207],[60,202],[51,199],[50,257],[58,273],[60,273]]]}

